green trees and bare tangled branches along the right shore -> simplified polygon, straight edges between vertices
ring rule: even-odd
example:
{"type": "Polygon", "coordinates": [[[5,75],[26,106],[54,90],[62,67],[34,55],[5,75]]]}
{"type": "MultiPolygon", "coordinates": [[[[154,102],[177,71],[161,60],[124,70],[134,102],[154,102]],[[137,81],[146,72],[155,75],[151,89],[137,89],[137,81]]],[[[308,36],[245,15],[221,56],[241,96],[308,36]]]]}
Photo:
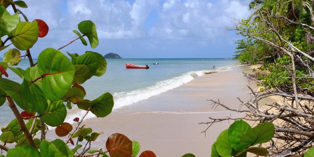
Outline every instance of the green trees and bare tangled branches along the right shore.
{"type": "MultiPolygon", "coordinates": [[[[244,76],[261,88],[248,86],[251,98],[248,101],[238,98],[241,104],[238,108],[211,99],[214,107],[244,116],[209,117],[209,122],[201,124],[212,126],[241,119],[269,122],[275,126],[275,133],[265,147],[268,156],[309,156],[314,146],[314,1],[252,0],[249,7],[252,15],[235,27],[243,37],[236,42],[235,59],[260,64],[244,76]],[[265,103],[265,99],[277,101],[265,103]]],[[[226,134],[227,131],[221,136],[226,134]]]]}

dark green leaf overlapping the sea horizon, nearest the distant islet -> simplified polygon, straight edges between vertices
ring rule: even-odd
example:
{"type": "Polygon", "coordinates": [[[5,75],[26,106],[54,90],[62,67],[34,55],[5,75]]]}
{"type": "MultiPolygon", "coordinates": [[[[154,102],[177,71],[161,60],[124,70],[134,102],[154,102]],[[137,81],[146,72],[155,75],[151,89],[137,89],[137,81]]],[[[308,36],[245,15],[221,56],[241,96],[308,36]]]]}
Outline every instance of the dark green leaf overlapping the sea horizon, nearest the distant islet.
{"type": "Polygon", "coordinates": [[[72,58],[73,65],[87,65],[92,76],[100,77],[105,74],[107,62],[101,54],[87,51],[83,55],[72,58]]]}

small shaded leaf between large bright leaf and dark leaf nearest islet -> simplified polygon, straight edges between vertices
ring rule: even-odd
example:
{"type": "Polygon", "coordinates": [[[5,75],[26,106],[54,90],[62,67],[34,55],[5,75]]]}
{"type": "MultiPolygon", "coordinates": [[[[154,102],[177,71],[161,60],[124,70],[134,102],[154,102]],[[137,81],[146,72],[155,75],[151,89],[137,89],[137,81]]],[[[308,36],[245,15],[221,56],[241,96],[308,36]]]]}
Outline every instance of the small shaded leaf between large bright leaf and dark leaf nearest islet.
{"type": "Polygon", "coordinates": [[[84,83],[86,80],[93,76],[87,65],[74,65],[74,67],[75,67],[74,82],[78,84],[84,83]]]}

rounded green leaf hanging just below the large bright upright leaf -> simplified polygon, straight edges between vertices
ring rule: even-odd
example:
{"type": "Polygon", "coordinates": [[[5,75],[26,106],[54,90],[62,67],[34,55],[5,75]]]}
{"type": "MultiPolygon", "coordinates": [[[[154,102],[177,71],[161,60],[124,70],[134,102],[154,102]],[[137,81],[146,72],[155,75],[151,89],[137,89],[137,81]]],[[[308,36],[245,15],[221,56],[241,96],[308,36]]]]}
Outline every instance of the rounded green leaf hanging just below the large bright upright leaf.
{"type": "Polygon", "coordinates": [[[60,125],[67,115],[67,109],[62,101],[49,102],[48,108],[40,117],[43,121],[52,127],[60,125]]]}

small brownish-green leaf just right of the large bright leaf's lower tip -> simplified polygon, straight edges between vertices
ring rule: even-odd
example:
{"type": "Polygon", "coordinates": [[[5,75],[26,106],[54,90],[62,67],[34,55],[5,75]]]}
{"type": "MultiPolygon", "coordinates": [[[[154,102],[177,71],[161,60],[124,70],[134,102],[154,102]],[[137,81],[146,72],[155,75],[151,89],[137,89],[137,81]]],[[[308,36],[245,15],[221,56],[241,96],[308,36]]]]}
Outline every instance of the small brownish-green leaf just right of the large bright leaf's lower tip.
{"type": "Polygon", "coordinates": [[[67,94],[62,98],[63,101],[71,101],[73,104],[78,104],[79,101],[83,100],[85,96],[84,91],[81,88],[72,86],[67,94]]]}

